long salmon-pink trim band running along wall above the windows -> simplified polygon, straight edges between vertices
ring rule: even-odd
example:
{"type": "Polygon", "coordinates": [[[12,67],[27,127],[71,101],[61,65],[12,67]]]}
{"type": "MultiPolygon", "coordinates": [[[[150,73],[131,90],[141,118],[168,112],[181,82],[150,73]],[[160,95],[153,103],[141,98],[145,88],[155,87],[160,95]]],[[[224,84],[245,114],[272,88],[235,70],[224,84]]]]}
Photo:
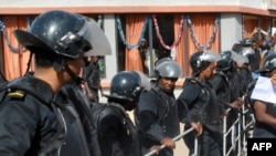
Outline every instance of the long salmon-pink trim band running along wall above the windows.
{"type": "Polygon", "coordinates": [[[51,7],[51,8],[0,8],[0,14],[40,14],[49,10],[65,10],[76,13],[211,13],[232,12],[275,17],[276,10],[255,9],[241,6],[168,6],[168,7],[51,7]]]}

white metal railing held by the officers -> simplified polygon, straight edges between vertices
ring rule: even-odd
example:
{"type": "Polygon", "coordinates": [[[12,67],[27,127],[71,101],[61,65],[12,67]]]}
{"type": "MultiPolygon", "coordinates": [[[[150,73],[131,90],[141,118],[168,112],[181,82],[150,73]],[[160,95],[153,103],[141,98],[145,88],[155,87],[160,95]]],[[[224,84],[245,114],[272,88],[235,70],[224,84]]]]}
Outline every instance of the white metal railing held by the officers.
{"type": "MultiPolygon", "coordinates": [[[[231,108],[227,110],[230,112],[231,108]]],[[[235,156],[246,156],[246,137],[251,127],[255,124],[255,118],[253,113],[246,108],[244,105],[238,110],[237,117],[234,119],[233,124],[227,128],[227,116],[223,117],[223,156],[229,156],[231,153],[234,153],[235,156]],[[229,139],[231,138],[231,142],[229,139]],[[227,145],[231,144],[231,145],[227,145]]],[[[173,137],[174,142],[179,141],[184,135],[191,133],[194,128],[189,128],[182,134],[173,137]]],[[[160,150],[164,148],[164,145],[160,146],[160,150]]],[[[151,150],[144,156],[151,156],[158,153],[158,150],[151,150]]],[[[199,156],[199,142],[198,136],[194,141],[194,153],[192,156],[199,156]]]]}

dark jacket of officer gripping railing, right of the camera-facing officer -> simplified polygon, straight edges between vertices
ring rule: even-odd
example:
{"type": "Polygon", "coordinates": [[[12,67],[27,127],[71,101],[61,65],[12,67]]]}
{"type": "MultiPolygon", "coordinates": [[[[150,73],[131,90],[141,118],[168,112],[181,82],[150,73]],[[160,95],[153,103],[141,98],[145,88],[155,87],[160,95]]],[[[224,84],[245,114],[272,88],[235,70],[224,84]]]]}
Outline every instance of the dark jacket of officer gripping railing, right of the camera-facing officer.
{"type": "Polygon", "coordinates": [[[221,106],[211,84],[198,77],[187,79],[178,97],[178,105],[188,108],[187,114],[182,115],[185,116],[182,121],[187,128],[190,128],[191,122],[201,122],[205,131],[214,136],[222,136],[221,106]]]}

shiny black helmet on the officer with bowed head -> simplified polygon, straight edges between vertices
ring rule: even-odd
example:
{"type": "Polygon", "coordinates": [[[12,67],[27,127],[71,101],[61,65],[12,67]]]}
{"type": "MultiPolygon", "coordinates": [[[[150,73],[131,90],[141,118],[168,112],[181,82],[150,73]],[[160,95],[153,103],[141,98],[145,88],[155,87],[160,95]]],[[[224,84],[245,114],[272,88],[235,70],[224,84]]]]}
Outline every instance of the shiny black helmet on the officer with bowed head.
{"type": "Polygon", "coordinates": [[[150,82],[138,71],[118,72],[110,83],[110,94],[107,98],[134,102],[145,90],[150,90],[150,82]]]}

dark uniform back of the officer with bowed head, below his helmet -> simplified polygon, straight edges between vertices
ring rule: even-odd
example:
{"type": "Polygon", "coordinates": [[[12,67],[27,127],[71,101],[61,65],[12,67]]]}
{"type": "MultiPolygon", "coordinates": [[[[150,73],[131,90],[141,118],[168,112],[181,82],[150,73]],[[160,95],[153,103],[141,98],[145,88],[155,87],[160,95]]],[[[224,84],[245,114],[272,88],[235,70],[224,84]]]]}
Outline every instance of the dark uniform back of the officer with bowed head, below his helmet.
{"type": "Polygon", "coordinates": [[[125,108],[117,103],[93,106],[102,156],[140,156],[136,128],[125,108]]]}

